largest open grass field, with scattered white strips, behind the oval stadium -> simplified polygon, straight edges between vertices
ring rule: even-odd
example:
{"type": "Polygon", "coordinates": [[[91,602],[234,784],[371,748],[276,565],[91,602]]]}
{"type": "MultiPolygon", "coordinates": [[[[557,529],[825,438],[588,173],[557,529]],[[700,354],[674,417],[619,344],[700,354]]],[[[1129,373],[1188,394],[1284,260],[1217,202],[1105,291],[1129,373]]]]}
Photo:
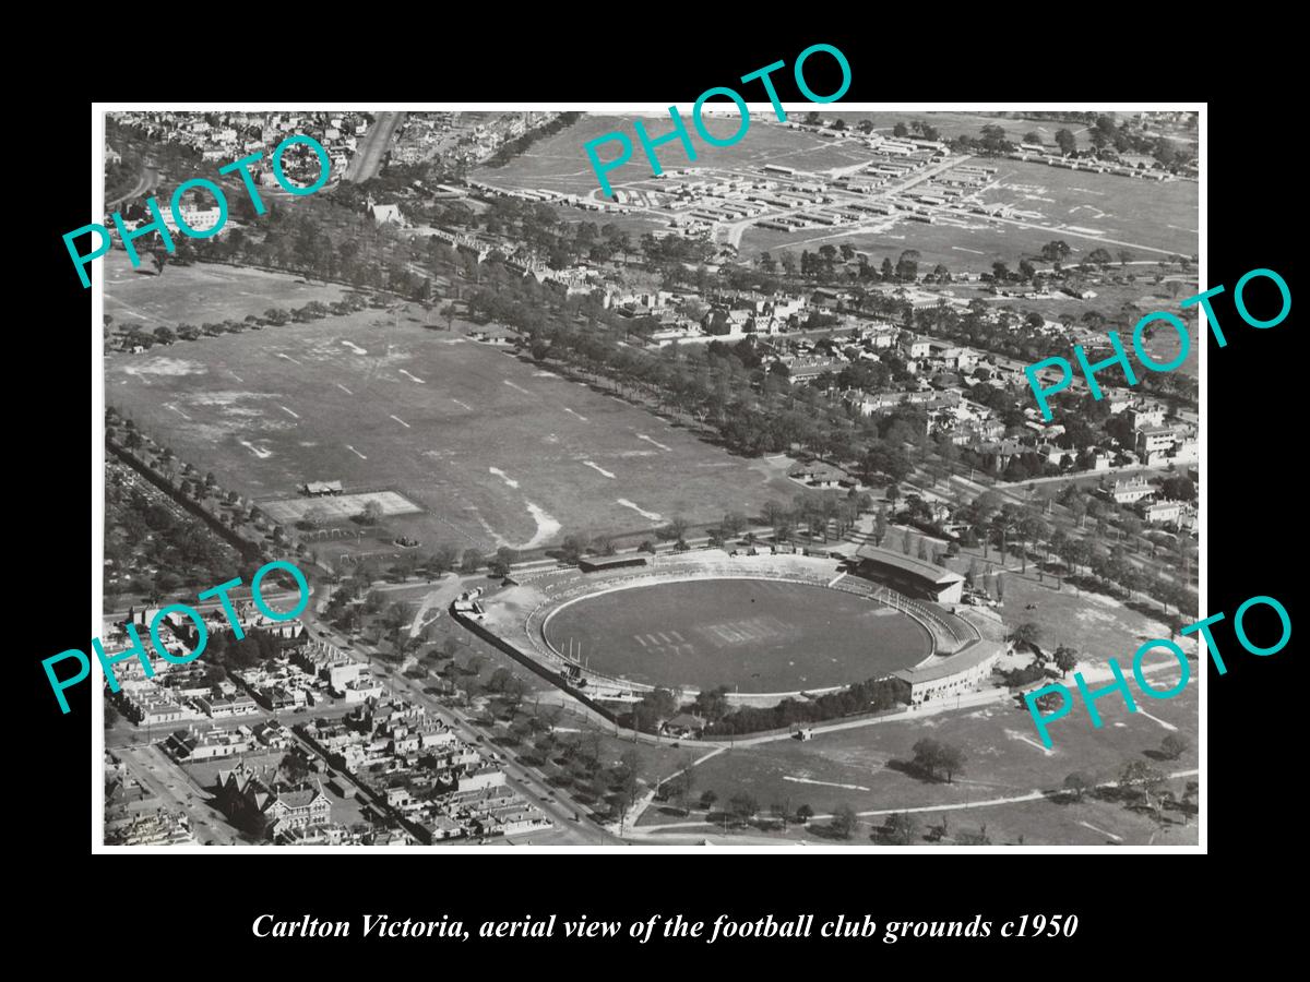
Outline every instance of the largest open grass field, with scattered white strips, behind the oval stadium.
{"type": "MultiPolygon", "coordinates": [[[[778,465],[732,457],[458,330],[427,330],[419,314],[401,312],[393,326],[362,312],[111,354],[106,399],[258,501],[295,499],[305,481],[393,490],[423,511],[389,517],[388,541],[407,534],[428,549],[536,547],[675,515],[710,521],[793,494],[778,465]]],[[[219,297],[187,314],[228,316],[219,297]]]]}

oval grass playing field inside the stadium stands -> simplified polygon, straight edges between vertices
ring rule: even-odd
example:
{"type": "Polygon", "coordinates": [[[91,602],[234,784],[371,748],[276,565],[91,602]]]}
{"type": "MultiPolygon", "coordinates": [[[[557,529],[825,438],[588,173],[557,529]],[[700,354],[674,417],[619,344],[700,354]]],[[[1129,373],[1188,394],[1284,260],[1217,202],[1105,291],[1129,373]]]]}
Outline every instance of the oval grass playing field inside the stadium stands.
{"type": "Polygon", "coordinates": [[[698,580],[610,591],[559,609],[546,638],[638,682],[790,693],[922,661],[927,631],[863,597],[799,583],[698,580]]]}

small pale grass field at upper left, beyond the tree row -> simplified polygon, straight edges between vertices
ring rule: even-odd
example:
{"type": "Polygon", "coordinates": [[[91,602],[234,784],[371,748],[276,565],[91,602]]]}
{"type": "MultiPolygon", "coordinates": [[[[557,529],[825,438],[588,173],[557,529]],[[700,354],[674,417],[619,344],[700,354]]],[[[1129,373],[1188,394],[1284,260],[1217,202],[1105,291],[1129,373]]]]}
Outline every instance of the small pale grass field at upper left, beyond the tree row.
{"type": "Polygon", "coordinates": [[[144,259],[140,271],[134,270],[122,249],[111,250],[101,262],[105,313],[114,318],[115,327],[155,330],[241,321],[270,306],[291,310],[312,300],[331,304],[346,293],[335,283],[308,283],[300,276],[217,263],[166,266],[162,275],[152,276],[145,270],[153,268],[153,262],[144,259]]]}

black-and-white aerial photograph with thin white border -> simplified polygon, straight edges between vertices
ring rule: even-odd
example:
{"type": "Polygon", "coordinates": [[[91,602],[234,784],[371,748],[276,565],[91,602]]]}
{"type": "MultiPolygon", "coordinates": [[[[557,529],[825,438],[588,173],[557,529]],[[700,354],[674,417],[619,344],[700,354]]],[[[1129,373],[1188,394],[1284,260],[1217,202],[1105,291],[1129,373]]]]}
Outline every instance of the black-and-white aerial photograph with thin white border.
{"type": "Polygon", "coordinates": [[[100,111],[97,848],[1204,846],[1204,106],[740,92],[100,111]]]}

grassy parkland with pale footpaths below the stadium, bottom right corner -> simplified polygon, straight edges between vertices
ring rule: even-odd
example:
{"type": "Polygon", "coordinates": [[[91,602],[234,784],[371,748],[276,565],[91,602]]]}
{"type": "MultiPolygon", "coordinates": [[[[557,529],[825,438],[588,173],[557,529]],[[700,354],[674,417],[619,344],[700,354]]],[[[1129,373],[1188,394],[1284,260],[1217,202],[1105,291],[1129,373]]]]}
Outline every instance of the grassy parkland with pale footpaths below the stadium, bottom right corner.
{"type": "MultiPolygon", "coordinates": [[[[808,804],[820,814],[840,804],[849,804],[857,812],[959,805],[960,810],[951,813],[952,827],[973,830],[988,824],[996,842],[1013,830],[1015,835],[1023,834],[1027,845],[1104,845],[1112,835],[1119,835],[1123,845],[1146,845],[1157,826],[1123,805],[1091,797],[1079,804],[1003,803],[1034,791],[1057,790],[1073,771],[1096,782],[1115,780],[1131,759],[1145,761],[1163,773],[1195,769],[1195,678],[1176,698],[1138,699],[1138,707],[1141,711],[1129,714],[1120,699],[1102,699],[1098,708],[1104,724],[1095,729],[1079,704],[1052,725],[1049,752],[1043,749],[1027,711],[1011,703],[816,733],[804,742],[743,745],[739,741],[736,748],[696,769],[696,787],[697,793],[713,790],[719,801],[747,792],[764,809],[773,803],[790,803],[791,810],[808,804]],[[1192,744],[1175,761],[1161,759],[1157,752],[1169,733],[1192,744]],[[914,742],[925,736],[954,744],[967,754],[964,773],[954,783],[927,782],[905,773],[903,765],[913,758],[914,742]],[[988,801],[1003,804],[979,807],[988,801]],[[1000,825],[993,813],[1003,816],[1000,825]]],[[[925,825],[941,821],[931,812],[921,813],[920,818],[925,825]]],[[[641,825],[677,821],[685,820],[651,808],[641,825]]],[[[866,821],[882,824],[883,818],[866,821]]],[[[1178,834],[1182,841],[1195,843],[1195,822],[1178,834]]]]}

